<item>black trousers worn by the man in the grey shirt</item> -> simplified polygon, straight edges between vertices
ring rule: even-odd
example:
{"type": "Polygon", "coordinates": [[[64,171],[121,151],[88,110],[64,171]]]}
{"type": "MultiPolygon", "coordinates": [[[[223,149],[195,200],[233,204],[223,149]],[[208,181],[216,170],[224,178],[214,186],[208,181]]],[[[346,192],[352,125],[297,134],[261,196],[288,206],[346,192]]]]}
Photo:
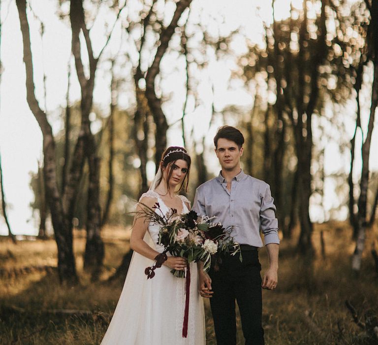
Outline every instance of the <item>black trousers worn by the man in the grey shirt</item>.
{"type": "Polygon", "coordinates": [[[210,299],[218,345],[236,345],[235,300],[238,302],[246,345],[264,345],[261,325],[261,265],[257,250],[222,258],[219,271],[213,269],[213,297],[210,299]]]}

